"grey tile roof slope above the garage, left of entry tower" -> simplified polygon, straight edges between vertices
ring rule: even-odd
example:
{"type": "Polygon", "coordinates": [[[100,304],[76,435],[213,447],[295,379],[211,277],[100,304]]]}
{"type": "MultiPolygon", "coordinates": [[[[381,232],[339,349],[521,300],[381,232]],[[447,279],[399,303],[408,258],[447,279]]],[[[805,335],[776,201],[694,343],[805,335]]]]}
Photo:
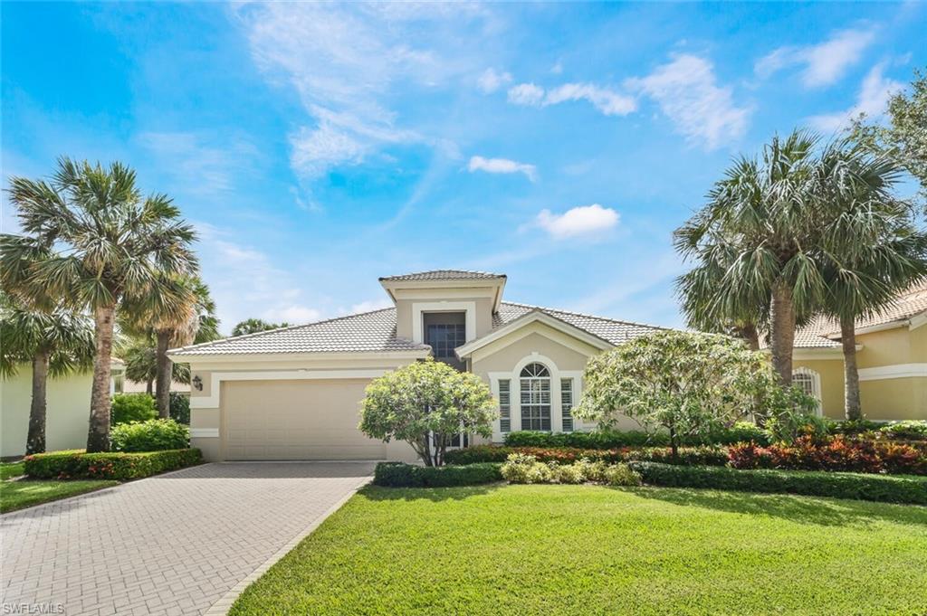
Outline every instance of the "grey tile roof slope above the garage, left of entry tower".
{"type": "Polygon", "coordinates": [[[428,346],[396,337],[396,308],[249,333],[195,346],[171,355],[242,355],[261,353],[349,353],[420,351],[428,346]]]}

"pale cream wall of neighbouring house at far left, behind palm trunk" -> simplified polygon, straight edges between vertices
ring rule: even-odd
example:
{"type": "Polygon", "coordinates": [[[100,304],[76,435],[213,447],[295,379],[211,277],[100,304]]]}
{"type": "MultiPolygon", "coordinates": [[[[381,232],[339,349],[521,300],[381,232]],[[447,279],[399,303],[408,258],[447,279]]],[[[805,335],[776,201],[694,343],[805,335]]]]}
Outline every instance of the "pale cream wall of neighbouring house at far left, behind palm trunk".
{"type": "MultiPolygon", "coordinates": [[[[48,379],[46,450],[86,446],[92,383],[90,372],[48,379]]],[[[32,368],[24,365],[15,376],[0,381],[0,457],[21,456],[26,452],[31,404],[32,368]]]]}

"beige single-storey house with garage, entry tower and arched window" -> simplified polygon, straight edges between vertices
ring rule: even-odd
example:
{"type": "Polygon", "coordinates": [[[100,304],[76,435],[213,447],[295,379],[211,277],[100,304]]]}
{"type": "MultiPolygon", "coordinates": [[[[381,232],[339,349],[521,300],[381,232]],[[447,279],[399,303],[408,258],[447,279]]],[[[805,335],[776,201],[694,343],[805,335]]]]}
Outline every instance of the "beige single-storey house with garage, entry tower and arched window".
{"type": "Polygon", "coordinates": [[[429,355],[489,384],[501,404],[493,441],[590,429],[570,414],[587,360],[660,328],[503,302],[505,280],[390,276],[380,283],[394,308],[171,350],[190,363],[193,446],[210,460],[414,459],[408,444],[358,430],[360,404],[372,379],[429,355]]]}

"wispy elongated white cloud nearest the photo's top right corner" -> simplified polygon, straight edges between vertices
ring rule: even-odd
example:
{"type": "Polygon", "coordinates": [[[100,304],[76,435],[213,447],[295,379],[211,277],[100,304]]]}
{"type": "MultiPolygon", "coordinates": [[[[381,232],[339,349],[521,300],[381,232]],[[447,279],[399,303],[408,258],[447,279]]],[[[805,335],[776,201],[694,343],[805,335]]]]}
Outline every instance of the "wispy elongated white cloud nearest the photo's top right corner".
{"type": "Polygon", "coordinates": [[[802,82],[807,87],[831,85],[862,58],[874,40],[873,30],[838,31],[820,44],[780,47],[760,58],[754,69],[757,75],[765,78],[781,69],[804,65],[802,82]]]}

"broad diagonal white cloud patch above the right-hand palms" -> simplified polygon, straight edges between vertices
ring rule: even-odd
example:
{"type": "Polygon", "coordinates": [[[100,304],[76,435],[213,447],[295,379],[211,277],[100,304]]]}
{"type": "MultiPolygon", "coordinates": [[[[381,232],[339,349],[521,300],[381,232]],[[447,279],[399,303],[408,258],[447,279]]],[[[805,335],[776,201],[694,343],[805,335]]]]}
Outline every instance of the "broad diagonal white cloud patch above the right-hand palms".
{"type": "Polygon", "coordinates": [[[715,69],[705,58],[677,56],[627,85],[654,98],[678,132],[708,149],[746,132],[752,110],[734,103],[730,86],[717,85],[715,69]]]}

